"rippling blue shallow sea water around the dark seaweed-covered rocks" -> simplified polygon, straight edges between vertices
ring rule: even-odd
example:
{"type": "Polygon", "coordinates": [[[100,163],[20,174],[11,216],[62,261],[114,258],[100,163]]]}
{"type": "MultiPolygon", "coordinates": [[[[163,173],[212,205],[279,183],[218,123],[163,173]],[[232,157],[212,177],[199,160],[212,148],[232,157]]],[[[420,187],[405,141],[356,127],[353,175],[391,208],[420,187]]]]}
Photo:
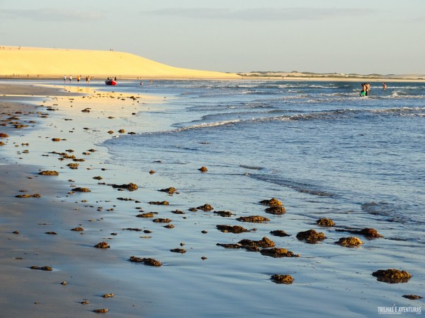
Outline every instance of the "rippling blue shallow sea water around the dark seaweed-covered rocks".
{"type": "MultiPolygon", "coordinates": [[[[116,205],[113,213],[102,213],[103,234],[86,228],[86,237],[94,240],[118,232],[108,251],[118,261],[93,270],[127,285],[128,290],[115,293],[134,298],[146,317],[379,317],[378,307],[424,305],[402,298],[422,295],[425,279],[423,83],[390,83],[387,90],[372,83],[368,98],[359,97],[360,83],[348,82],[153,81],[140,86],[123,81],[114,88],[91,87],[162,98],[161,103],[140,101],[125,112],[119,100],[116,108],[91,105],[94,116],[121,114],[126,131],[136,134],[104,141],[104,132],[84,131],[81,144],[73,141],[67,147],[97,143],[93,158],[107,170],[63,174],[93,189],[81,199],[95,196],[96,204],[116,205]],[[137,114],[129,116],[131,112],[137,114]],[[198,171],[203,165],[208,172],[198,171]],[[149,175],[149,170],[157,173],[149,175]],[[108,175],[115,183],[135,182],[140,189],[111,195],[111,189],[94,185],[92,174],[102,174],[106,182],[108,175]],[[179,194],[157,191],[166,187],[176,187],[179,194]],[[118,196],[140,203],[118,201],[118,196]],[[259,204],[272,197],[283,202],[283,216],[265,213],[259,204]],[[148,204],[163,200],[170,205],[148,204]],[[188,211],[203,204],[234,216],[188,211]],[[136,207],[170,218],[175,228],[135,218],[136,207]],[[171,213],[176,209],[185,214],[171,213]],[[236,220],[253,215],[270,221],[236,220]],[[336,226],[319,227],[321,217],[336,226]],[[256,230],[223,233],[218,224],[256,230]],[[152,233],[122,230],[136,227],[152,233]],[[364,244],[358,248],[334,244],[351,236],[335,229],[365,227],[376,228],[384,238],[360,237],[364,244]],[[327,239],[315,245],[297,240],[297,232],[309,229],[324,232],[327,239]],[[271,230],[290,236],[275,237],[271,230]],[[264,236],[301,257],[274,259],[217,246],[264,236]],[[181,243],[186,254],[169,251],[181,243]],[[126,261],[130,255],[153,257],[164,266],[132,264],[126,261]],[[390,268],[414,277],[409,283],[387,284],[371,276],[390,268]],[[272,283],[274,273],[288,273],[295,281],[272,283]]],[[[85,115],[78,109],[71,116],[84,121],[85,115]]],[[[107,121],[103,130],[113,125],[107,121]]],[[[63,125],[74,127],[73,122],[63,125]]],[[[52,136],[47,131],[40,134],[52,136]]],[[[39,142],[30,140],[35,148],[39,142]]]]}

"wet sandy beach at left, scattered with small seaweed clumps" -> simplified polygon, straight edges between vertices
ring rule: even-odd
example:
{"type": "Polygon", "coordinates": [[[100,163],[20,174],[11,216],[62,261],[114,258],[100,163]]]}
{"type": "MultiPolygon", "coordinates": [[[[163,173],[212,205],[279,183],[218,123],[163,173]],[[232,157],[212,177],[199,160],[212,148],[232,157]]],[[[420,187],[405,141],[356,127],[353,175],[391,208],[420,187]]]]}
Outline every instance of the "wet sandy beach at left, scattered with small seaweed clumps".
{"type": "MultiPolygon", "coordinates": [[[[19,116],[23,119],[19,120],[20,124],[28,124],[28,127],[21,129],[13,128],[9,122],[2,122],[6,126],[0,126],[0,132],[8,134],[8,138],[0,140],[5,143],[0,148],[3,160],[0,165],[0,239],[3,250],[0,265],[3,271],[0,275],[4,285],[8,286],[1,293],[3,317],[91,317],[93,310],[101,308],[109,308],[119,317],[144,316],[145,311],[135,298],[145,291],[139,288],[134,290],[135,286],[129,287],[117,277],[102,272],[103,269],[113,269],[117,260],[122,260],[120,251],[115,249],[116,252],[106,256],[106,251],[91,248],[105,240],[104,236],[109,236],[109,232],[103,234],[99,231],[113,228],[103,222],[102,212],[94,208],[96,201],[93,196],[83,199],[84,194],[71,195],[69,191],[72,188],[69,189],[69,186],[74,185],[73,182],[67,184],[62,177],[58,179],[55,176],[38,175],[40,170],[52,167],[52,170],[58,170],[60,175],[73,176],[72,181],[78,182],[81,175],[87,173],[81,172],[84,168],[80,168],[80,172],[68,171],[69,168],[63,167],[64,164],[52,164],[57,158],[51,159],[52,155],[46,154],[47,149],[52,147],[52,150],[64,150],[60,142],[53,145],[54,142],[50,139],[42,140],[44,144],[52,143],[42,149],[37,149],[34,143],[35,139],[41,139],[42,126],[64,119],[63,114],[47,111],[47,108],[61,107],[64,101],[75,102],[77,98],[81,102],[82,98],[91,94],[77,94],[60,88],[40,86],[0,84],[0,89],[13,95],[12,98],[7,95],[0,97],[1,120],[19,116]],[[44,98],[41,98],[42,96],[44,98]],[[10,102],[11,99],[15,101],[10,102]],[[57,106],[48,107],[49,104],[57,106]],[[47,118],[42,118],[45,115],[47,118]],[[34,123],[35,121],[40,122],[34,123]],[[6,151],[6,157],[3,151],[6,151]],[[16,155],[13,155],[15,151],[16,155]],[[36,155],[40,153],[40,159],[36,160],[35,165],[21,163],[28,155],[26,151],[37,153],[36,155]],[[42,165],[43,161],[47,161],[45,165],[42,165]],[[20,194],[40,194],[41,197],[15,197],[20,194]],[[79,226],[86,230],[71,230],[79,226]],[[47,232],[57,234],[49,235],[47,232]],[[37,271],[30,269],[30,266],[50,266],[53,271],[37,271]],[[63,282],[67,282],[67,285],[62,285],[63,282]],[[107,293],[120,294],[120,300],[115,301],[114,305],[112,299],[111,301],[101,297],[107,293]],[[88,305],[82,305],[81,302],[84,301],[87,301],[88,305]]],[[[96,93],[93,94],[96,96],[96,93]]],[[[106,97],[102,99],[107,102],[106,97]]],[[[123,117],[124,114],[121,113],[120,116],[123,117]]],[[[123,119],[120,119],[120,122],[123,122],[123,119]]],[[[67,139],[72,136],[71,132],[67,134],[67,139]]],[[[89,145],[91,141],[84,143],[89,145]]],[[[97,165],[96,162],[93,164],[97,165]]],[[[87,169],[94,168],[89,165],[87,169]]]]}

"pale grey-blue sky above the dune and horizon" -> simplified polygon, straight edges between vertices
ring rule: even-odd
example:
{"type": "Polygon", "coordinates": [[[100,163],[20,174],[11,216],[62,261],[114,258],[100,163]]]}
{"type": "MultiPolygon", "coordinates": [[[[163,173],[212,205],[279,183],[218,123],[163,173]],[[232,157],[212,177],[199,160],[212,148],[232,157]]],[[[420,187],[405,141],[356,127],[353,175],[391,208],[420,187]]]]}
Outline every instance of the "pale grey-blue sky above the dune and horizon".
{"type": "Polygon", "coordinates": [[[211,71],[425,73],[425,0],[0,0],[0,46],[211,71]]]}

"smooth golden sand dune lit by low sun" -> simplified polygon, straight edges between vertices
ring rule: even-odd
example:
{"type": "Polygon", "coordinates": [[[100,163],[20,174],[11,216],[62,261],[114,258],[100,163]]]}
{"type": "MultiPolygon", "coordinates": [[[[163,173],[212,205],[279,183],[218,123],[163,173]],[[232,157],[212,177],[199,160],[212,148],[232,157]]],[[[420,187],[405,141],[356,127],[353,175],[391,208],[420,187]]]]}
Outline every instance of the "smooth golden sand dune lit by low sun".
{"type": "Polygon", "coordinates": [[[181,69],[134,54],[83,49],[0,47],[0,76],[117,76],[118,78],[239,78],[236,74],[181,69]]]}

